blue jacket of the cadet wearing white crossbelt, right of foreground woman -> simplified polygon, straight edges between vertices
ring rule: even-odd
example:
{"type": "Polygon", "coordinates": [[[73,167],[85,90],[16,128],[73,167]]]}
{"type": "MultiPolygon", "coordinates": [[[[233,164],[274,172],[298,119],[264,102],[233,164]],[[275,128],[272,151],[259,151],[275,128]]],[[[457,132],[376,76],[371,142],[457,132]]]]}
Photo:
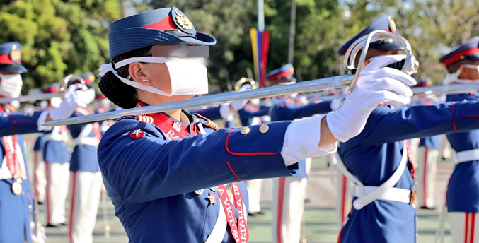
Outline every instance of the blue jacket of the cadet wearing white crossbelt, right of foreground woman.
{"type": "MultiPolygon", "coordinates": [[[[377,107],[362,133],[341,143],[338,153],[347,170],[362,184],[380,186],[398,167],[403,140],[479,129],[479,117],[473,117],[476,114],[479,102],[405,106],[394,110],[377,107]]],[[[412,190],[414,180],[408,167],[395,187],[412,190]]],[[[396,201],[374,201],[359,211],[352,208],[340,242],[415,242],[415,217],[410,204],[396,201]]]]}

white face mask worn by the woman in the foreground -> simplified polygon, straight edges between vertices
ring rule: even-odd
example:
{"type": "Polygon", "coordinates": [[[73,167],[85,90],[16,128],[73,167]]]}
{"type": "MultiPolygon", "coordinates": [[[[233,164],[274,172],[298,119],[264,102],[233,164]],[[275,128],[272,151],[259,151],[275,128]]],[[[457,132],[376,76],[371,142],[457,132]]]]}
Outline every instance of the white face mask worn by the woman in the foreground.
{"type": "Polygon", "coordinates": [[[115,69],[132,64],[134,62],[148,62],[166,64],[171,80],[171,93],[152,86],[144,86],[136,81],[123,78],[118,75],[112,67],[112,64],[103,64],[100,67],[100,76],[112,71],[120,81],[140,90],[145,90],[158,95],[204,95],[208,93],[208,77],[206,68],[206,59],[204,58],[163,58],[163,57],[133,57],[119,61],[115,64],[115,69]]]}

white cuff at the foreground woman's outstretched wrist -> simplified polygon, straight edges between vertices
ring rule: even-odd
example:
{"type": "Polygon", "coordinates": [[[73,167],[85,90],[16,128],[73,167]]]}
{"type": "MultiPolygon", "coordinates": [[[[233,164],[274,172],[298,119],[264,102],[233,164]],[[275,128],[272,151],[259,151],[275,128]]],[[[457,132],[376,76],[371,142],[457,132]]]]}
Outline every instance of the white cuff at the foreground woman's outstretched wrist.
{"type": "Polygon", "coordinates": [[[319,148],[321,134],[321,119],[325,114],[292,121],[284,134],[281,155],[286,166],[293,165],[300,160],[320,157],[335,153],[337,146],[331,144],[325,148],[319,148]]]}

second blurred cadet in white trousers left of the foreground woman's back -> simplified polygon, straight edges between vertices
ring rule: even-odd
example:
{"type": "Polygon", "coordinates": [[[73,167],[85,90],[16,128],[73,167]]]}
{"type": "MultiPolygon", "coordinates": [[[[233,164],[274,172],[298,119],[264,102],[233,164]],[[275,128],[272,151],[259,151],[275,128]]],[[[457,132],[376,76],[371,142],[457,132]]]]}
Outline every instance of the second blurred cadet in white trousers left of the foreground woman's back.
{"type": "MultiPolygon", "coordinates": [[[[42,89],[42,93],[58,93],[58,83],[53,83],[42,89]]],[[[50,108],[56,108],[61,100],[53,98],[50,108]]],[[[54,126],[43,135],[45,143],[42,150],[45,161],[45,176],[47,178],[45,194],[45,216],[47,227],[67,225],[65,203],[67,203],[69,185],[69,136],[67,126],[54,126]]]]}

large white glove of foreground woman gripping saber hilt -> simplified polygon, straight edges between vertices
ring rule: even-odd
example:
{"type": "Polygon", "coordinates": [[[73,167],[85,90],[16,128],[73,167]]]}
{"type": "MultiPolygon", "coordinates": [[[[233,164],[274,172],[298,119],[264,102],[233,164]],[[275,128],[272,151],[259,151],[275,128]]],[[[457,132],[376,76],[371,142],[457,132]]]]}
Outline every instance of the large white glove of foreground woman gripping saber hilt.
{"type": "Polygon", "coordinates": [[[415,79],[397,69],[382,68],[404,58],[403,55],[379,57],[364,68],[344,104],[326,116],[328,127],[337,140],[345,142],[360,134],[369,114],[380,102],[410,103],[412,90],[408,85],[415,85],[415,79]]]}

